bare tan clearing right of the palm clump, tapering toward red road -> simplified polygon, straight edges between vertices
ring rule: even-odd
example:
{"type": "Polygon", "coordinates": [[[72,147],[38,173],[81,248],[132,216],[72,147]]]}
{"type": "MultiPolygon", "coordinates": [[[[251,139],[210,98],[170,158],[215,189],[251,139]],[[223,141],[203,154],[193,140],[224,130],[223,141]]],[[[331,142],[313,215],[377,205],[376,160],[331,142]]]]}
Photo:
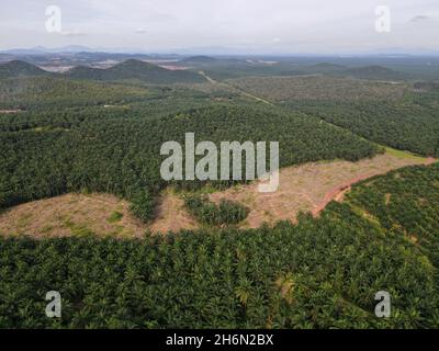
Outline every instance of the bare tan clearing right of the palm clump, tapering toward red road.
{"type": "Polygon", "coordinates": [[[259,193],[255,183],[211,194],[210,199],[214,202],[225,199],[248,206],[250,213],[243,228],[257,228],[278,220],[294,223],[301,211],[317,216],[333,200],[341,201],[353,183],[393,169],[432,161],[385,154],[358,162],[307,163],[282,169],[279,190],[274,193],[259,193]]]}

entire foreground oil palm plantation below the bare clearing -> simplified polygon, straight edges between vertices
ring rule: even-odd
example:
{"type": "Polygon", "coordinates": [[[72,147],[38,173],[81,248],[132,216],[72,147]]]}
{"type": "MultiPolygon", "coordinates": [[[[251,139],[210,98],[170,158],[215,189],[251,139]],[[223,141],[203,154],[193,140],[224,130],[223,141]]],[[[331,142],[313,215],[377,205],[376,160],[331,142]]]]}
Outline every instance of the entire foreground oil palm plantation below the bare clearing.
{"type": "Polygon", "coordinates": [[[273,229],[0,238],[0,327],[438,328],[438,165],[398,170],[273,229]],[[374,316],[379,291],[392,318],[374,316]]]}

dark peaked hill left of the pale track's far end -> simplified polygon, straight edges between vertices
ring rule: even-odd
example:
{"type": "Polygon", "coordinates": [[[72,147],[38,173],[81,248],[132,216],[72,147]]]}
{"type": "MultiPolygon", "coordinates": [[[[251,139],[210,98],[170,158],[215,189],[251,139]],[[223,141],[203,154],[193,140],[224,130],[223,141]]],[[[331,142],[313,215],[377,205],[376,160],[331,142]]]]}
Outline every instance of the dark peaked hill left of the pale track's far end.
{"type": "Polygon", "coordinates": [[[76,79],[105,81],[140,80],[153,84],[204,81],[202,76],[192,71],[169,70],[137,59],[128,59],[106,69],[78,66],[67,71],[66,76],[76,79]]]}

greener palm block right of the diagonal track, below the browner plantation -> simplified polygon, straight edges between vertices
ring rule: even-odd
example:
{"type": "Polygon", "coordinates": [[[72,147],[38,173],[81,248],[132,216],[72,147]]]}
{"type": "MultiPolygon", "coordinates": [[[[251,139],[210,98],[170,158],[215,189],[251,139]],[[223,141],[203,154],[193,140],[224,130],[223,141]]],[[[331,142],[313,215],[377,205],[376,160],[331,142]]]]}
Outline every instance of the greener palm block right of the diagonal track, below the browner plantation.
{"type": "Polygon", "coordinates": [[[397,102],[292,102],[289,105],[313,116],[399,150],[439,156],[438,94],[410,93],[397,102]]]}

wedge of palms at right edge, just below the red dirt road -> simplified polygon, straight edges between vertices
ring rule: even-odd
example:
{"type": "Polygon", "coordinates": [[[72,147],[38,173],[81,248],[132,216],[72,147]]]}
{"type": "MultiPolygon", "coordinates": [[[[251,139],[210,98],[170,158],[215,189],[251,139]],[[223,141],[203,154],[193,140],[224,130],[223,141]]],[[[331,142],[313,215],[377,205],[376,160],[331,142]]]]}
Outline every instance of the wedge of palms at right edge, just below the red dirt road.
{"type": "Polygon", "coordinates": [[[439,163],[365,180],[353,186],[347,200],[374,216],[386,236],[416,242],[439,267],[439,163]]]}

